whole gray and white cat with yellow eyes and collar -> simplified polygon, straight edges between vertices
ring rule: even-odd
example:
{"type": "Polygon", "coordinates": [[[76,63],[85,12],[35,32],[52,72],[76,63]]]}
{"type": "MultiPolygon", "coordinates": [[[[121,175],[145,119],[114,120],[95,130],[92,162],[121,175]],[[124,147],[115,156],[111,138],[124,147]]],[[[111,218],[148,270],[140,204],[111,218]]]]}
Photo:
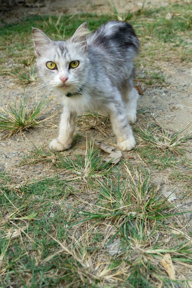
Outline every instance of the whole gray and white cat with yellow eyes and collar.
{"type": "Polygon", "coordinates": [[[76,114],[85,110],[108,111],[119,148],[134,148],[129,122],[136,121],[133,60],[139,40],[132,26],[110,21],[89,34],[83,23],[67,41],[52,41],[33,28],[33,41],[39,75],[47,86],[60,91],[63,102],[59,135],[50,149],[70,147],[76,114]]]}

